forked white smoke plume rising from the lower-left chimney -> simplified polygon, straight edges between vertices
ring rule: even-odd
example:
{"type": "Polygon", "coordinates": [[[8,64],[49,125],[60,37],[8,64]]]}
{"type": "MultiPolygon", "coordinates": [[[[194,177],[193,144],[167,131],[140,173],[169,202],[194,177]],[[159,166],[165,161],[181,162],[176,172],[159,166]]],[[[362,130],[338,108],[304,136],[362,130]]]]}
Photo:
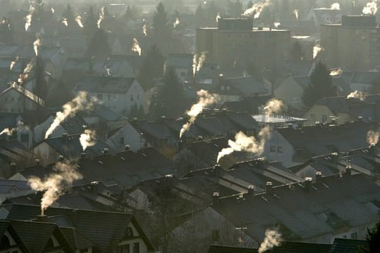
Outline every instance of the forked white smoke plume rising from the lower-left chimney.
{"type": "Polygon", "coordinates": [[[66,188],[72,186],[72,182],[82,179],[82,174],[76,171],[74,164],[58,162],[54,169],[57,173],[46,176],[44,180],[39,179],[37,176],[31,176],[27,181],[33,190],[44,191],[41,199],[41,215],[44,215],[46,208],[58,200],[58,197],[64,193],[66,188]]]}

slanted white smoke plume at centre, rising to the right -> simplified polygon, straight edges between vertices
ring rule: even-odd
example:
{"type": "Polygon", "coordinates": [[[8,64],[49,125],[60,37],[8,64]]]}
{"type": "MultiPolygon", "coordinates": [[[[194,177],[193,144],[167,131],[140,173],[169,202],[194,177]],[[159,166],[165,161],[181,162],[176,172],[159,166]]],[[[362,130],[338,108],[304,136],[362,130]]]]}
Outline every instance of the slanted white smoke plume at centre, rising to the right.
{"type": "Polygon", "coordinates": [[[208,91],[201,90],[197,92],[199,100],[198,103],[191,106],[190,110],[186,112],[189,115],[189,121],[182,126],[181,131],[179,131],[179,138],[182,138],[182,135],[185,131],[190,129],[190,126],[194,124],[196,117],[202,112],[203,108],[208,105],[212,105],[217,102],[219,97],[216,94],[210,94],[208,91]]]}

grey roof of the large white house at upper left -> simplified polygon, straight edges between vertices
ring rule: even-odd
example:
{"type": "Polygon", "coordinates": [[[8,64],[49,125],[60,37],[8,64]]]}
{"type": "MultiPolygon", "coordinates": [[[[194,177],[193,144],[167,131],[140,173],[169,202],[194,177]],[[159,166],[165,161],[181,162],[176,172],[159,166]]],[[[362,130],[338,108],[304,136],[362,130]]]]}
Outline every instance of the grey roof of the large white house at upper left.
{"type": "Polygon", "coordinates": [[[83,77],[75,87],[75,91],[127,93],[134,80],[122,77],[83,77]]]}

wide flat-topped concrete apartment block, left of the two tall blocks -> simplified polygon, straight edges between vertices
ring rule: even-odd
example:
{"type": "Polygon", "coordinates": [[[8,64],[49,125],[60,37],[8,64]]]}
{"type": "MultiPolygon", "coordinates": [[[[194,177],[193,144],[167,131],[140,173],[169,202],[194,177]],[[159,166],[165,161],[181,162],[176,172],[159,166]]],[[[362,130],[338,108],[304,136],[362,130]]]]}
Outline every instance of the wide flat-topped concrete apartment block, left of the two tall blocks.
{"type": "Polygon", "coordinates": [[[248,18],[222,18],[217,27],[196,30],[196,51],[206,52],[206,61],[222,69],[247,64],[269,69],[289,57],[291,32],[255,27],[248,18]]]}

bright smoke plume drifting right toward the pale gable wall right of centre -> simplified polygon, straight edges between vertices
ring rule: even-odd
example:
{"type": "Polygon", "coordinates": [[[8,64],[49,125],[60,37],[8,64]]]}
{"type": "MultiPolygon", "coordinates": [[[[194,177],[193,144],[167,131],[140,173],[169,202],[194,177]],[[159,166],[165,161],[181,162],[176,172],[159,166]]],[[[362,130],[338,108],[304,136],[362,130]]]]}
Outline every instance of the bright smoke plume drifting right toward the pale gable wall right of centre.
{"type": "Polygon", "coordinates": [[[234,151],[245,151],[261,155],[264,152],[265,141],[270,137],[270,128],[265,126],[259,133],[259,139],[256,140],[255,136],[246,136],[243,132],[239,132],[235,136],[235,141],[228,140],[228,148],[223,148],[217,154],[217,162],[220,161],[225,155],[232,154],[234,151]]]}

